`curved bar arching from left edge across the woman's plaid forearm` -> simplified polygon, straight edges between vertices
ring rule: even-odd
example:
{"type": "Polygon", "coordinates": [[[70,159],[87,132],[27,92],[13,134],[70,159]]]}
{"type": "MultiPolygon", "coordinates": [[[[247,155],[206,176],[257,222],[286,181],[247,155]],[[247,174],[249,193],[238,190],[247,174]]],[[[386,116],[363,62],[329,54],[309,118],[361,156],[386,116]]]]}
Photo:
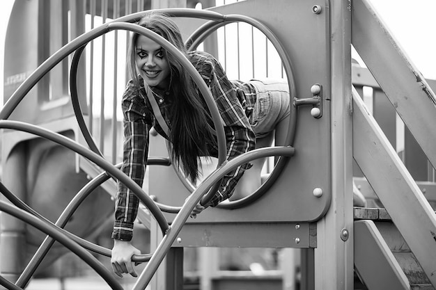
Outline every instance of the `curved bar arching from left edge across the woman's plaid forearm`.
{"type": "Polygon", "coordinates": [[[153,216],[157,220],[157,223],[159,224],[159,227],[162,229],[163,233],[166,232],[166,229],[169,228],[168,222],[166,221],[164,214],[162,214],[162,211],[160,211],[159,207],[157,207],[155,202],[153,202],[153,200],[151,200],[151,198],[146,193],[144,193],[141,186],[139,186],[136,182],[127,177],[127,175],[125,175],[123,172],[118,170],[114,165],[102,158],[102,156],[96,154],[95,152],[92,152],[91,150],[88,150],[82,145],[75,143],[73,140],[62,136],[61,134],[56,134],[52,131],[42,129],[32,124],[26,124],[18,121],[0,120],[0,128],[26,131],[28,133],[38,135],[48,140],[52,140],[55,143],[61,144],[64,147],[67,147],[68,149],[81,154],[81,156],[85,156],[87,159],[93,161],[95,164],[106,170],[108,174],[113,175],[118,180],[120,180],[120,182],[123,182],[123,184],[130,188],[138,196],[139,200],[141,200],[143,204],[148,207],[151,214],[153,214],[153,216]]]}

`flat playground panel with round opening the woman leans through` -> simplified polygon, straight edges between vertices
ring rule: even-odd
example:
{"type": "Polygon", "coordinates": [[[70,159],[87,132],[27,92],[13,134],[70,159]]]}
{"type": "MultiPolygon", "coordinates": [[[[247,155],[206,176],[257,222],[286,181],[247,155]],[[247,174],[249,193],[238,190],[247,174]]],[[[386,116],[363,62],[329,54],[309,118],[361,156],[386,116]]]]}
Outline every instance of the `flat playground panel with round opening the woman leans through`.
{"type": "MultiPolygon", "coordinates": [[[[311,97],[311,86],[322,84],[324,111],[322,118],[315,119],[310,115],[310,106],[299,108],[294,144],[297,153],[263,198],[238,210],[207,209],[189,222],[311,221],[321,218],[327,211],[331,187],[329,5],[322,6],[325,12],[316,15],[312,6],[318,4],[306,0],[242,1],[214,8],[219,13],[254,17],[268,26],[292,61],[297,96],[311,97]],[[320,198],[313,195],[313,189],[318,187],[323,191],[320,198]]],[[[153,143],[150,156],[168,156],[162,140],[150,139],[153,143]]],[[[188,195],[172,168],[150,170],[150,193],[157,195],[157,202],[176,206],[181,206],[188,195]]],[[[167,218],[171,220],[171,216],[167,218]]]]}

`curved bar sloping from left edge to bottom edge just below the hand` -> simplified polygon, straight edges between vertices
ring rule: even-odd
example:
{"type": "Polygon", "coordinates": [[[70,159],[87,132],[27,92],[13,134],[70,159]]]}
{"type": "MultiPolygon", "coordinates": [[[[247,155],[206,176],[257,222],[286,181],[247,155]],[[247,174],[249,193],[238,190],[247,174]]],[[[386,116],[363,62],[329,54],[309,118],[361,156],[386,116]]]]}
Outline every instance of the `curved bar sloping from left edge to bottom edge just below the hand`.
{"type": "Polygon", "coordinates": [[[59,241],[59,243],[65,245],[66,248],[74,252],[82,260],[84,260],[86,264],[91,266],[95,272],[97,272],[104,279],[104,281],[109,284],[111,289],[123,290],[123,287],[118,283],[114,275],[109,273],[106,267],[104,267],[100,261],[98,261],[98,259],[95,259],[90,252],[84,250],[84,248],[81,248],[81,246],[75,241],[72,241],[68,236],[60,232],[58,228],[54,227],[54,225],[46,223],[36,216],[33,216],[22,209],[17,209],[16,207],[13,207],[13,205],[7,204],[6,202],[0,202],[0,211],[4,211],[11,216],[15,216],[15,218],[19,218],[29,225],[33,225],[33,227],[40,229],[40,231],[53,236],[56,241],[59,241]]]}

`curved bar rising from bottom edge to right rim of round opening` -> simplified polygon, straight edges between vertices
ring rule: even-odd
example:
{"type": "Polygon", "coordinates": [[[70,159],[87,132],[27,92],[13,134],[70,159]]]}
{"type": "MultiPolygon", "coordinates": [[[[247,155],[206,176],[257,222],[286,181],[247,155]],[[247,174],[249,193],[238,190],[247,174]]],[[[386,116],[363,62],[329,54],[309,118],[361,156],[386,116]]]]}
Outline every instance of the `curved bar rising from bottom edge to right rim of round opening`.
{"type": "MultiPolygon", "coordinates": [[[[293,147],[264,147],[252,150],[250,152],[244,153],[240,156],[236,156],[231,161],[227,161],[220,168],[217,168],[212,174],[208,176],[196,188],[194,193],[189,196],[189,198],[185,201],[182,209],[177,214],[176,218],[174,218],[173,223],[171,224],[170,229],[166,232],[164,238],[157,246],[155,250],[155,254],[151,257],[150,261],[144,268],[141,275],[139,275],[137,283],[134,284],[132,290],[140,290],[146,289],[146,286],[151,280],[151,277],[155,274],[157,267],[164,259],[166,252],[169,250],[171,245],[176,240],[177,235],[180,233],[182,226],[185,225],[189,214],[192,213],[192,209],[198,204],[198,202],[203,198],[206,192],[208,192],[209,188],[216,184],[221,180],[224,175],[226,175],[229,171],[237,168],[238,166],[247,163],[251,160],[263,158],[267,156],[293,156],[295,150],[293,147]]],[[[213,193],[212,193],[213,194],[213,193]]]]}

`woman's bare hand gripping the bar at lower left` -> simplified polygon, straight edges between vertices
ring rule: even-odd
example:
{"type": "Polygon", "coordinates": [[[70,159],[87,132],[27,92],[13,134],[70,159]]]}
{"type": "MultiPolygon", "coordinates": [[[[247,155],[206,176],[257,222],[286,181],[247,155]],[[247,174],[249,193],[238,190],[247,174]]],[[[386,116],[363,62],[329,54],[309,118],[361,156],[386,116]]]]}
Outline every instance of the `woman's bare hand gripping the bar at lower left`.
{"type": "MultiPolygon", "coordinates": [[[[123,277],[123,273],[129,273],[133,277],[138,277],[133,268],[132,256],[141,255],[141,251],[134,248],[131,241],[120,241],[114,239],[114,248],[112,248],[111,265],[114,273],[123,277]]],[[[136,264],[135,264],[136,266],[136,264]]]]}

